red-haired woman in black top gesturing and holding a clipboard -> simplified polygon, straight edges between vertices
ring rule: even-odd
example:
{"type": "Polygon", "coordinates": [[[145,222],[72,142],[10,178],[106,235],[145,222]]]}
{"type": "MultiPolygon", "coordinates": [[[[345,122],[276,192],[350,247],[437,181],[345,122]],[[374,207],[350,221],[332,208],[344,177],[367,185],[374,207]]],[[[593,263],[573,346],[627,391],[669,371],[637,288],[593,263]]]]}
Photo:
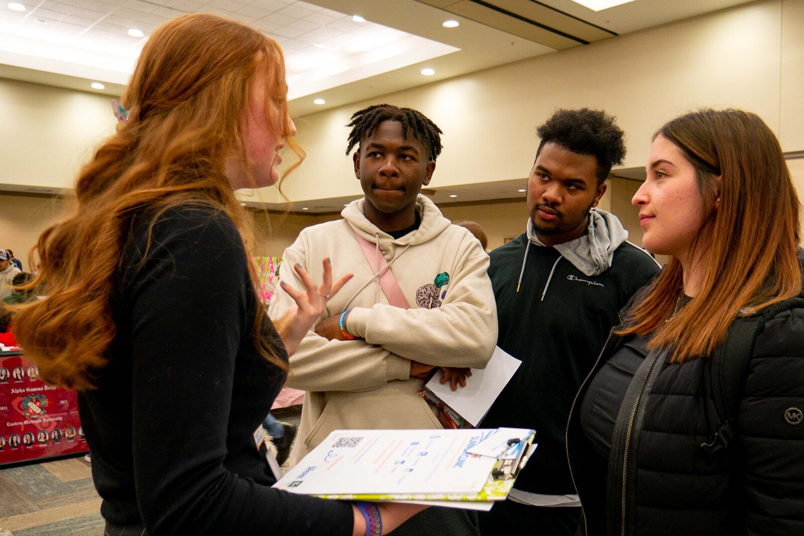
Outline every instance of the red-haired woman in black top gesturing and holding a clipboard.
{"type": "Polygon", "coordinates": [[[15,318],[42,378],[80,391],[106,534],[379,534],[421,509],[272,489],[260,424],[293,353],[347,280],[298,270],[276,329],[234,191],[273,185],[293,144],[279,45],[209,14],[148,39],[129,118],[43,233],[47,297],[15,318]],[[367,524],[366,520],[371,520],[367,524]]]}

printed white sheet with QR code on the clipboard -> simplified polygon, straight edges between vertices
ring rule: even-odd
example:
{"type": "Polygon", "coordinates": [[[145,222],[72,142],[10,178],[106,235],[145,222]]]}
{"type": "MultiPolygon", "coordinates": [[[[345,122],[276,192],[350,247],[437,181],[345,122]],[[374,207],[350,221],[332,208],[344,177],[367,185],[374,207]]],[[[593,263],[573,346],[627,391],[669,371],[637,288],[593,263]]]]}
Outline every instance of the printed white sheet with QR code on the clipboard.
{"type": "Polygon", "coordinates": [[[314,495],[476,494],[496,460],[466,450],[491,432],[336,430],[274,487],[314,495]]]}

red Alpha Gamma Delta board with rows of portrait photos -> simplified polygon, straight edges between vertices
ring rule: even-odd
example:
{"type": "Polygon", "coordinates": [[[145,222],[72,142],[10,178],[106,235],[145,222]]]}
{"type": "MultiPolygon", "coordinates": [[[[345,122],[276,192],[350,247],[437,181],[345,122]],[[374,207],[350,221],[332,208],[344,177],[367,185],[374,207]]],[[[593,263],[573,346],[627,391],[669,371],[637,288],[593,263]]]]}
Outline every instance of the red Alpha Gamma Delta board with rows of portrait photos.
{"type": "Polygon", "coordinates": [[[14,354],[0,354],[0,465],[88,452],[76,391],[46,385],[14,354]]]}

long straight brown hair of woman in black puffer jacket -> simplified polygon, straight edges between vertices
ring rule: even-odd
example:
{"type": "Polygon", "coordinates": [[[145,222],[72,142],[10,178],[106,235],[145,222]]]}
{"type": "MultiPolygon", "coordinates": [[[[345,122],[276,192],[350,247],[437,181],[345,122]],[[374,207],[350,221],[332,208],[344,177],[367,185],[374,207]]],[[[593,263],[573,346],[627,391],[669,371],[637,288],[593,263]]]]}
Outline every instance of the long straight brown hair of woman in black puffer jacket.
{"type": "Polygon", "coordinates": [[[659,135],[695,168],[706,215],[693,244],[701,288],[673,315],[683,273],[671,258],[619,333],[654,333],[651,348],[672,345],[671,362],[684,362],[711,354],[740,313],[801,293],[799,204],[779,141],[754,113],[703,109],[670,121],[659,135]]]}

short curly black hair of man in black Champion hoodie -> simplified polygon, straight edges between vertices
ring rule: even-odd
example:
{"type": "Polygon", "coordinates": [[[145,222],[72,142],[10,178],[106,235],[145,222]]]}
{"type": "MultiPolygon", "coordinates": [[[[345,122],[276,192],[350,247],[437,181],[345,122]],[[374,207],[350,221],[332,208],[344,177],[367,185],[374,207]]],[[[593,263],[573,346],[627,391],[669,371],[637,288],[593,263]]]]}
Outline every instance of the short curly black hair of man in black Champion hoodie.
{"type": "Polygon", "coordinates": [[[626,158],[626,142],[614,116],[603,110],[580,108],[558,109],[548,121],[536,128],[542,138],[536,158],[545,143],[557,143],[573,153],[591,154],[597,158],[597,186],[609,176],[612,166],[626,158]]]}

